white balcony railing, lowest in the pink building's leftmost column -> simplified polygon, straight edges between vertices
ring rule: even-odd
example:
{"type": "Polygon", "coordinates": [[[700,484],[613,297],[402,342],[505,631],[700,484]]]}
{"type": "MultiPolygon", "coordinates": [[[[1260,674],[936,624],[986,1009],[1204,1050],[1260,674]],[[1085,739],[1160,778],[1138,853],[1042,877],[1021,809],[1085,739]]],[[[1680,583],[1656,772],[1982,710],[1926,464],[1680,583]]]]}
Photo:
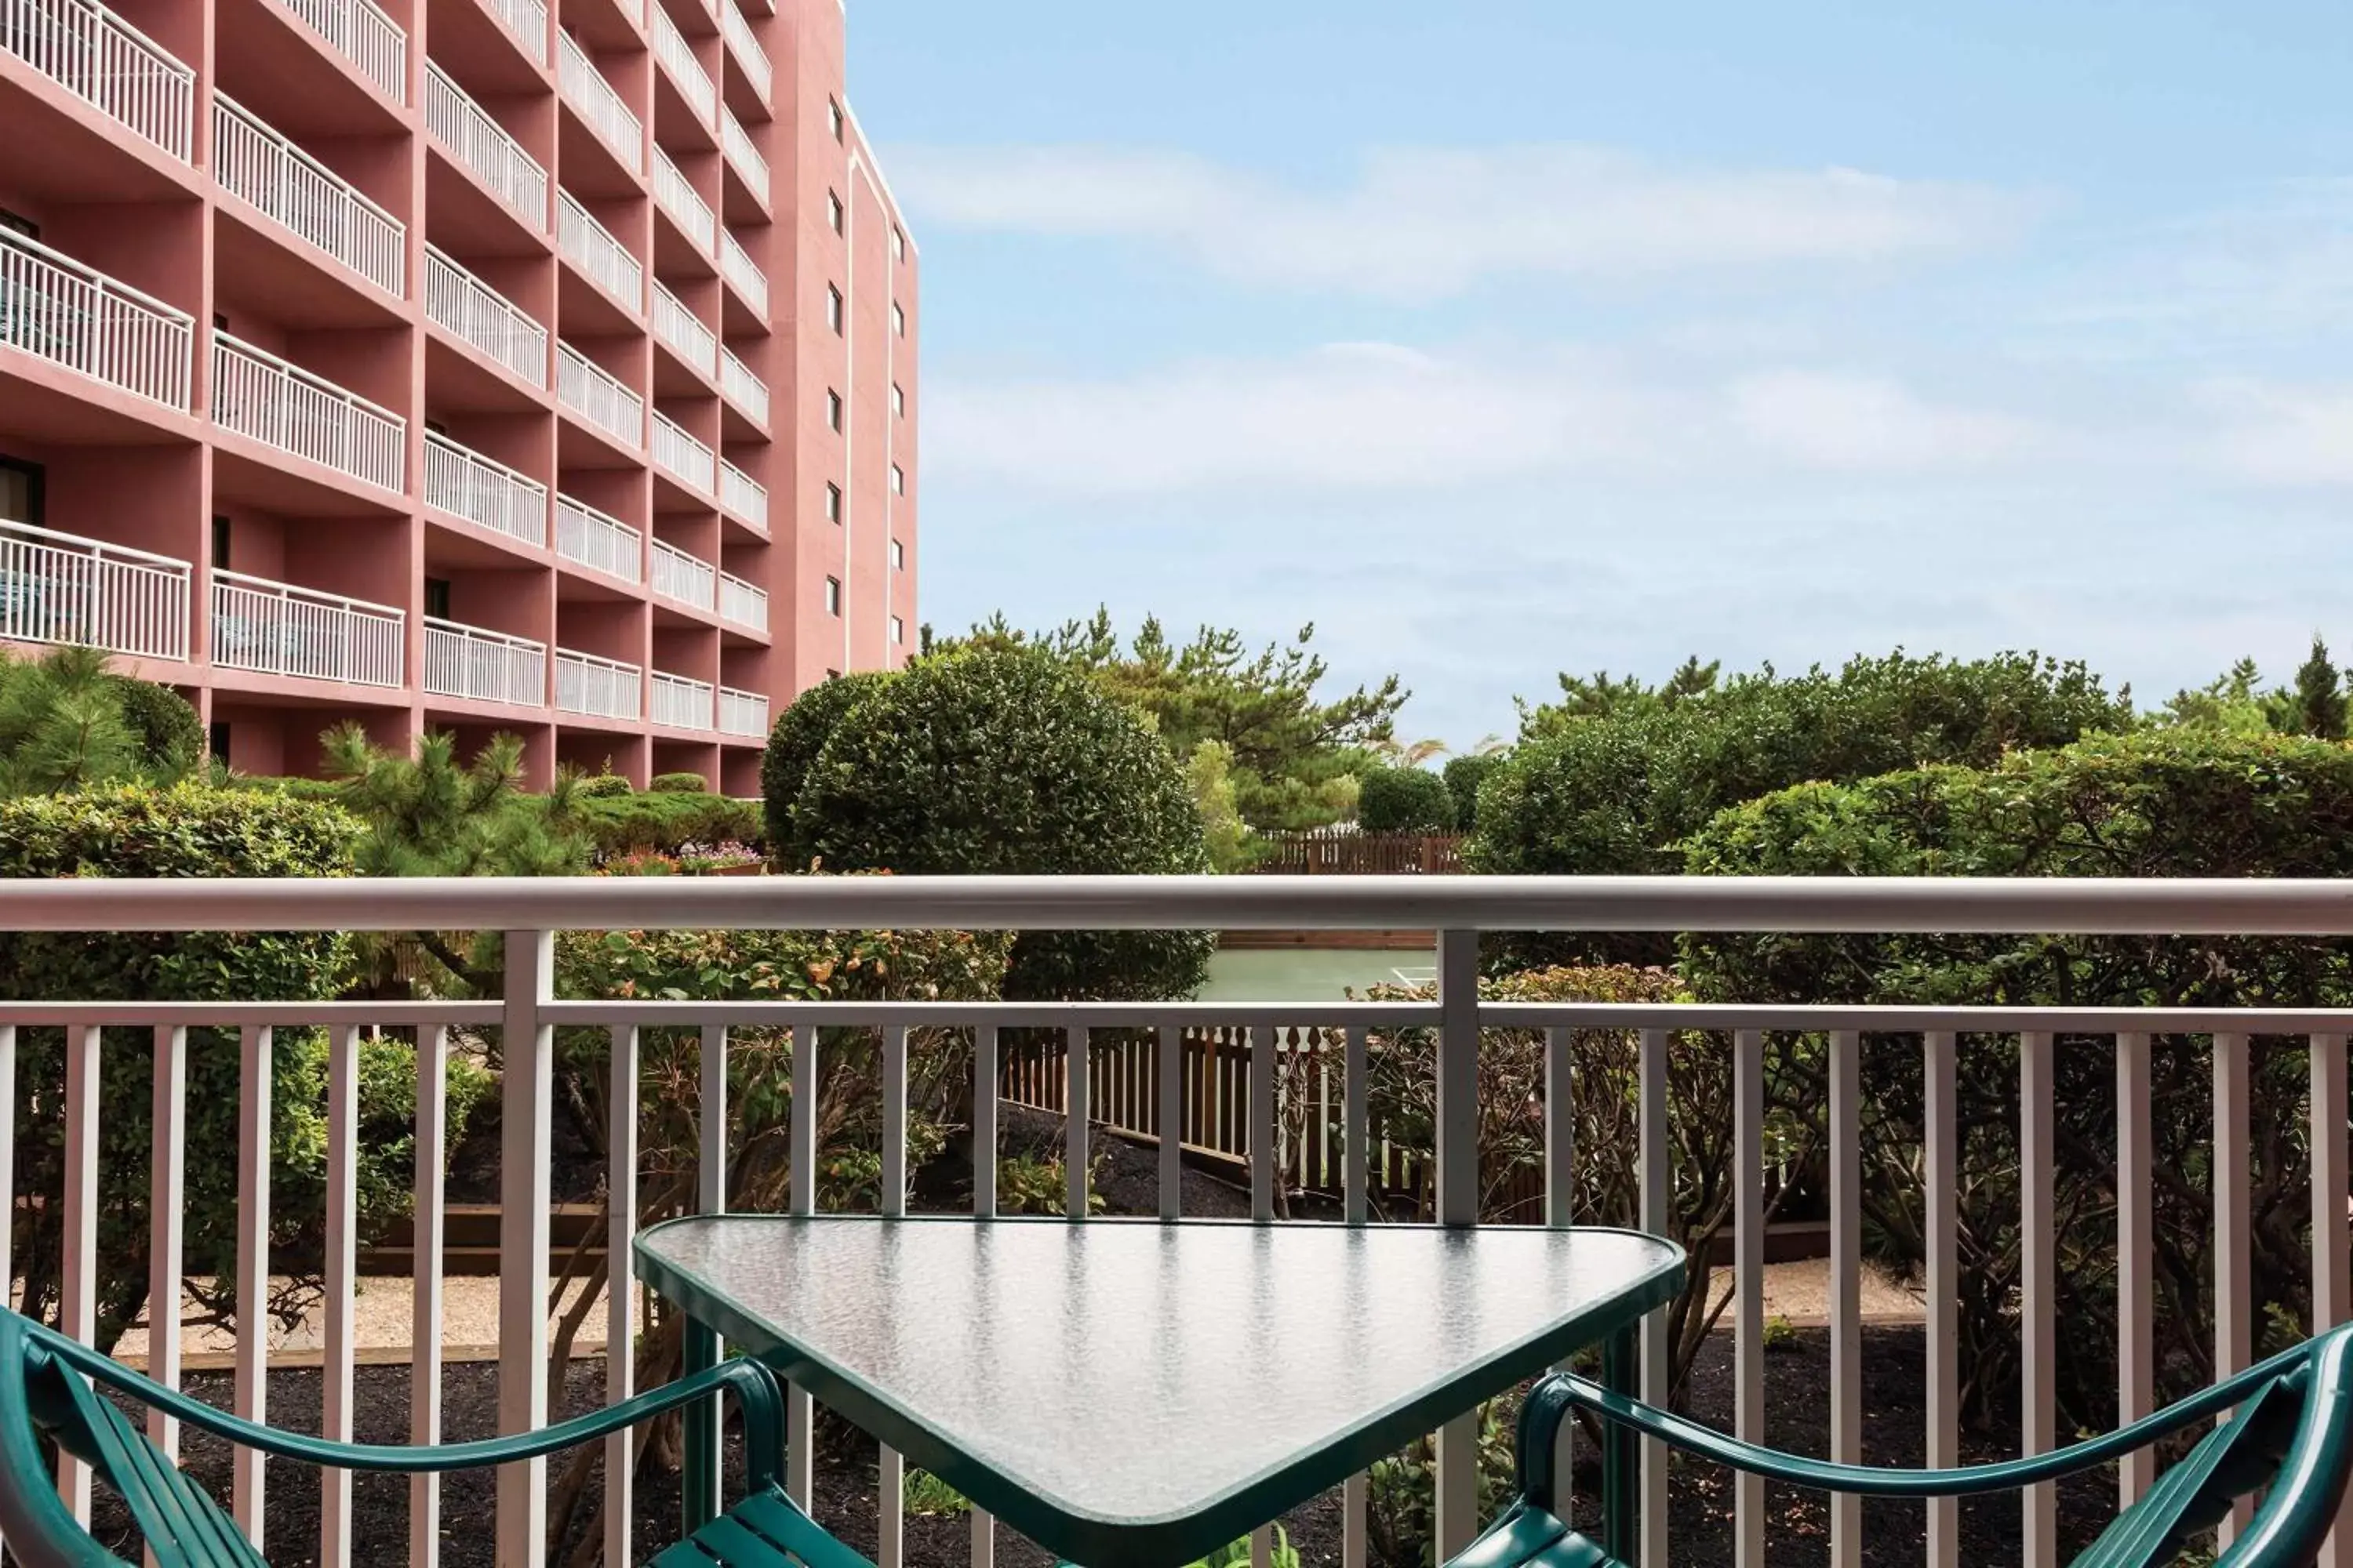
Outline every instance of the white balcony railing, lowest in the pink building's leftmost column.
{"type": "Polygon", "coordinates": [[[188,562],[0,522],[0,642],[188,658],[188,562]]]}

